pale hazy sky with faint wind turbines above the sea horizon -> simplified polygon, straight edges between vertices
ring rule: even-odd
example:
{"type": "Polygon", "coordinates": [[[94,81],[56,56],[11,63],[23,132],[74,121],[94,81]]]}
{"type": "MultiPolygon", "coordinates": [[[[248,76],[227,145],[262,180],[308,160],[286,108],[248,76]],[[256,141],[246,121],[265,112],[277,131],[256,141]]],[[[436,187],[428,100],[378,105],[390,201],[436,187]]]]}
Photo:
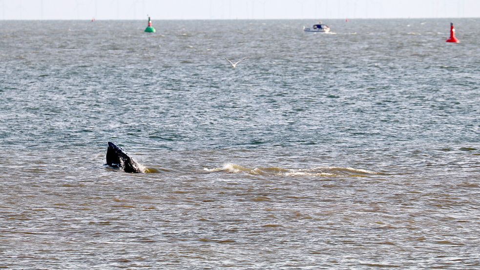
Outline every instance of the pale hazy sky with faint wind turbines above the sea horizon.
{"type": "Polygon", "coordinates": [[[480,0],[0,0],[0,20],[480,17],[480,0]]]}

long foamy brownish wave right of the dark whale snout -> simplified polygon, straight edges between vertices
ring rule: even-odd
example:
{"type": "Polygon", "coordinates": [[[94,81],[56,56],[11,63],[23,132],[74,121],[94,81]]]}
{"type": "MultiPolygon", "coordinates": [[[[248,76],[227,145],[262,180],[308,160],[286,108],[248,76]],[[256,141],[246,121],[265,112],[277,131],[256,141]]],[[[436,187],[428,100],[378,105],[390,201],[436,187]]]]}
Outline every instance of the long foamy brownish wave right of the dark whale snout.
{"type": "Polygon", "coordinates": [[[305,169],[286,169],[280,167],[247,168],[233,163],[226,163],[220,168],[204,168],[204,170],[208,172],[247,173],[263,176],[367,177],[370,175],[381,174],[375,171],[351,167],[321,166],[305,169]]]}

